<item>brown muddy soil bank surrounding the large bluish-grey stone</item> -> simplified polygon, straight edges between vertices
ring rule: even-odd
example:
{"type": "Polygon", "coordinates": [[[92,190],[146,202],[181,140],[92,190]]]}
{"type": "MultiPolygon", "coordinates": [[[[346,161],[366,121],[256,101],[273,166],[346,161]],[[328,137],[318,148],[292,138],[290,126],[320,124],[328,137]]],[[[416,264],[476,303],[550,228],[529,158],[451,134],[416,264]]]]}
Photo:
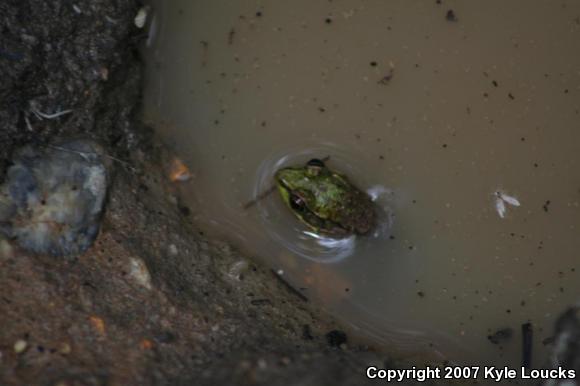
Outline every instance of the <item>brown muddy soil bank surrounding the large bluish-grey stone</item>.
{"type": "Polygon", "coordinates": [[[171,155],[139,121],[139,7],[0,3],[0,176],[18,147],[63,137],[98,141],[114,164],[85,254],[0,241],[0,384],[370,383],[383,355],[192,224],[171,155]]]}

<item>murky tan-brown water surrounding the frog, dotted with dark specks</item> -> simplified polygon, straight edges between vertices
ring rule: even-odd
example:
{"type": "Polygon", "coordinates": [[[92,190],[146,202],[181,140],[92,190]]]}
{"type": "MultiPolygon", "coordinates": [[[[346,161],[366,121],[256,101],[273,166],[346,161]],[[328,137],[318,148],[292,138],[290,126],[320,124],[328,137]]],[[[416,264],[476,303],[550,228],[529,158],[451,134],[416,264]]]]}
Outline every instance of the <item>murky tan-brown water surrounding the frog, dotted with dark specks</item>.
{"type": "Polygon", "coordinates": [[[145,118],[204,228],[391,350],[516,366],[531,322],[542,365],[580,289],[580,3],[153,8],[145,118]],[[374,234],[318,240],[276,194],[244,207],[326,156],[378,195],[374,234]],[[520,204],[503,218],[498,191],[520,204]]]}

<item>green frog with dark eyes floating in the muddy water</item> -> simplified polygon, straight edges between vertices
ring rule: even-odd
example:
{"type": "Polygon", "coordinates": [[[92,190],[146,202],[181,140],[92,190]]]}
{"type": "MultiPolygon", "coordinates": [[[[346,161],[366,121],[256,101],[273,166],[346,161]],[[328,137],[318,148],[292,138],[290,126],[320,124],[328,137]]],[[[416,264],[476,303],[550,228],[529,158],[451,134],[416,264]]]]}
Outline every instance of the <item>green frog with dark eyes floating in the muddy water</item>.
{"type": "Polygon", "coordinates": [[[284,203],[316,234],[366,235],[375,227],[371,197],[323,160],[314,158],[302,166],[284,167],[274,179],[284,203]]]}

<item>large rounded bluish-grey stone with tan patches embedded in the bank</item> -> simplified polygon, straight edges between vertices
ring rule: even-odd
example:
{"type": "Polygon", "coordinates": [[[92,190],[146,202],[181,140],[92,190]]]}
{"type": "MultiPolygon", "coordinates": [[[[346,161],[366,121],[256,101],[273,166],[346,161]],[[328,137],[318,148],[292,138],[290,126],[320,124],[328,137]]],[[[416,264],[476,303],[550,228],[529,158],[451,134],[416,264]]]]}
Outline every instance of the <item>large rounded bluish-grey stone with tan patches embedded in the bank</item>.
{"type": "Polygon", "coordinates": [[[54,256],[95,240],[107,192],[102,149],[84,140],[17,151],[0,186],[0,236],[54,256]]]}

